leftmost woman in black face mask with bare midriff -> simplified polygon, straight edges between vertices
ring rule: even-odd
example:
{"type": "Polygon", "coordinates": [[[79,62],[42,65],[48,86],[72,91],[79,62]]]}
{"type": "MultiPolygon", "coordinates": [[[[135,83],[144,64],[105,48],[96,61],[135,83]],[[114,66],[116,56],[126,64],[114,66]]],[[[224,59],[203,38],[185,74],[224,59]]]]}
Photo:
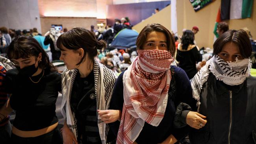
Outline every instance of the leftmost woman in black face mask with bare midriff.
{"type": "Polygon", "coordinates": [[[4,79],[11,97],[0,117],[16,111],[11,143],[62,144],[55,113],[61,74],[32,37],[17,37],[7,48],[7,56],[16,68],[8,70],[4,79]]]}

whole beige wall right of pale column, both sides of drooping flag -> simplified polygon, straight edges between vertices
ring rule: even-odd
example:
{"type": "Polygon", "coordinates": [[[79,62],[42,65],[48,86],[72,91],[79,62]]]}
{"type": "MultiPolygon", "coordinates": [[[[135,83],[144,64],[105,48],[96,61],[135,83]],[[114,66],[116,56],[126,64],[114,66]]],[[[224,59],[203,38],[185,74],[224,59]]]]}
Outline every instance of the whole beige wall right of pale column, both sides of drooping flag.
{"type": "MultiPolygon", "coordinates": [[[[183,29],[191,30],[193,26],[199,28],[199,32],[195,35],[197,45],[201,48],[213,47],[213,29],[217,17],[218,8],[221,6],[221,0],[215,0],[208,6],[195,12],[189,0],[177,0],[177,19],[178,34],[182,35],[183,29]]],[[[239,30],[243,27],[251,30],[252,36],[256,38],[256,2],[253,4],[252,17],[245,19],[226,20],[230,29],[239,30]]]]}

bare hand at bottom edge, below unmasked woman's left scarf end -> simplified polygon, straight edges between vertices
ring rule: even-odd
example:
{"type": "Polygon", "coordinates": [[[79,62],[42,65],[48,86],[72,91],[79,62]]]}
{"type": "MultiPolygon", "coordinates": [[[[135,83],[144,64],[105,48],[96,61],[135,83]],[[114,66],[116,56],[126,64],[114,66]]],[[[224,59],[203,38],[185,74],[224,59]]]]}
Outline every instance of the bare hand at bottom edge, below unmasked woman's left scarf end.
{"type": "Polygon", "coordinates": [[[78,144],[78,142],[74,136],[74,133],[72,133],[72,131],[70,131],[66,122],[64,122],[64,125],[62,128],[62,137],[63,137],[64,144],[78,144]]]}

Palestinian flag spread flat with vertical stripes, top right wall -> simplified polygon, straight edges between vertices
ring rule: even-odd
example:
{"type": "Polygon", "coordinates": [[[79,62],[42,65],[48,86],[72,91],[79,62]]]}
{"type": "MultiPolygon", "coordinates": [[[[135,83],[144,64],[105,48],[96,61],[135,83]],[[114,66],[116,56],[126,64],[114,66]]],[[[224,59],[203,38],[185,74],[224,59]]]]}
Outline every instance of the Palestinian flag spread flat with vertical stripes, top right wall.
{"type": "Polygon", "coordinates": [[[249,18],[253,0],[221,0],[221,20],[249,18]]]}

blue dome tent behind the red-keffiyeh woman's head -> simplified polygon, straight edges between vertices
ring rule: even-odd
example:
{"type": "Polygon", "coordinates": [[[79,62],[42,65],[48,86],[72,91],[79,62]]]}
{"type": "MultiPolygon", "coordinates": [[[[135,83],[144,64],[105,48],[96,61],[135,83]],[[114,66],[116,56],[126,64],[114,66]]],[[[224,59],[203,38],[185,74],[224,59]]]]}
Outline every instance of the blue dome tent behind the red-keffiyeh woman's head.
{"type": "Polygon", "coordinates": [[[136,48],[136,39],[139,33],[130,29],[123,29],[115,35],[113,42],[111,43],[111,48],[126,49],[126,48],[136,48]]]}

